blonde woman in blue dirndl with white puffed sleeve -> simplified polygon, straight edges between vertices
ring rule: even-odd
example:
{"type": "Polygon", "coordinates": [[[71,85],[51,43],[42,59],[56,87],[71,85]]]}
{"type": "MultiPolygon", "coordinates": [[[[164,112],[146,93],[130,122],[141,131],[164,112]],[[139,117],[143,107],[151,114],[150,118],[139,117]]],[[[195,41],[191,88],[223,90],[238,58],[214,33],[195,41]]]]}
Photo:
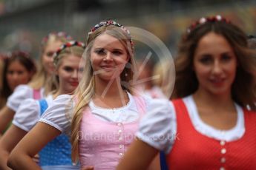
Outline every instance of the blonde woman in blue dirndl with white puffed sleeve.
{"type": "MultiPolygon", "coordinates": [[[[78,41],[70,41],[63,44],[53,57],[55,74],[49,84],[50,94],[46,98],[36,101],[25,100],[19,107],[13,119],[13,125],[4,133],[0,140],[0,168],[7,167],[7,158],[12,149],[22,140],[22,137],[36,125],[47,106],[53,102],[58,95],[72,94],[78,86],[79,61],[85,45],[78,41]]],[[[30,143],[28,143],[30,144],[30,143]]],[[[17,155],[19,156],[19,155],[17,155]]],[[[39,152],[39,165],[42,169],[79,169],[73,166],[71,161],[71,145],[66,135],[60,135],[39,152]]]]}

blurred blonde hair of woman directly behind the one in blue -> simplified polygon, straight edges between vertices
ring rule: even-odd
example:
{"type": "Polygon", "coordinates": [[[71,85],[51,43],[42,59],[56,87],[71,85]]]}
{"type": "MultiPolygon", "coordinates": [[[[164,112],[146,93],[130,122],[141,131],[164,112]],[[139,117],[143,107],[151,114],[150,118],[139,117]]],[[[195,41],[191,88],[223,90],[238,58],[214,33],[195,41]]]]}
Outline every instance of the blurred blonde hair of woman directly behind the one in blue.
{"type": "Polygon", "coordinates": [[[33,89],[40,89],[42,87],[45,87],[45,95],[47,95],[51,89],[48,89],[49,86],[46,86],[48,81],[47,76],[47,70],[42,64],[43,55],[45,52],[45,49],[47,45],[49,45],[52,42],[60,41],[62,43],[68,42],[69,36],[66,34],[59,32],[59,33],[50,33],[42,40],[42,47],[41,47],[41,55],[40,60],[38,64],[38,72],[36,72],[36,75],[33,76],[32,80],[29,83],[29,86],[31,86],[33,89]]]}

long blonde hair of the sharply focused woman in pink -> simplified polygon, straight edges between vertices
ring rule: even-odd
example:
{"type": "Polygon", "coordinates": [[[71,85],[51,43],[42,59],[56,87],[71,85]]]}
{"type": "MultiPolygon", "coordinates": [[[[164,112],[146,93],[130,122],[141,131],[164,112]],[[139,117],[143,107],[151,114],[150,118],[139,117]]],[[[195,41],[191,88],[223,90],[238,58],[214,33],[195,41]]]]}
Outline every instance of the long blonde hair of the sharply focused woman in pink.
{"type": "MultiPolygon", "coordinates": [[[[95,28],[95,27],[94,27],[95,28]]],[[[76,106],[73,112],[73,118],[71,122],[71,138],[72,143],[72,160],[74,163],[77,162],[79,157],[79,128],[82,120],[82,112],[88,103],[91,101],[94,95],[95,81],[93,76],[93,69],[91,66],[91,49],[93,47],[93,41],[95,38],[101,34],[108,34],[117,38],[125,47],[128,52],[129,60],[125,65],[125,69],[122,71],[121,85],[123,89],[131,92],[131,80],[133,78],[133,71],[135,69],[134,53],[133,53],[133,44],[127,32],[123,30],[123,27],[119,27],[113,24],[105,24],[102,27],[96,28],[93,32],[88,35],[88,41],[86,42],[86,49],[84,52],[85,66],[83,77],[79,83],[78,88],[74,93],[74,99],[76,101],[76,106]],[[122,84],[123,83],[123,84],[122,84]]]]}

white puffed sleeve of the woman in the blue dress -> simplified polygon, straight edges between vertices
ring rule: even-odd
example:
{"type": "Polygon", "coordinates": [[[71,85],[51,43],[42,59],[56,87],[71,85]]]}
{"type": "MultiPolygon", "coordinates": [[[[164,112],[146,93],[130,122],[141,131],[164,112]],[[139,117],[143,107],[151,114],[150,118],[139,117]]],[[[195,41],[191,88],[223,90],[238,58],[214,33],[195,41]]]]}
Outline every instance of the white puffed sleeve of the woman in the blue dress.
{"type": "Polygon", "coordinates": [[[13,118],[13,124],[24,131],[30,131],[40,118],[38,101],[29,98],[21,103],[13,118]]]}

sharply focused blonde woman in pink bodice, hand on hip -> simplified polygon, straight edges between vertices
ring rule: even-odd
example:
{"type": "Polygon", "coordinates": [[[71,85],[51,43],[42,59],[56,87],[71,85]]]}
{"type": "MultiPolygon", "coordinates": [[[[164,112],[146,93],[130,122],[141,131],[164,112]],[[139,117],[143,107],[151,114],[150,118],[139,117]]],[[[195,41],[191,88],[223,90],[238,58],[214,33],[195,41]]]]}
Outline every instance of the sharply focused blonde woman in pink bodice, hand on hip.
{"type": "Polygon", "coordinates": [[[9,166],[39,169],[33,155],[65,132],[70,134],[74,163],[79,160],[83,169],[115,169],[151,102],[131,93],[133,50],[131,35],[121,24],[96,24],[88,33],[85,71],[76,92],[53,101],[13,150],[9,166]]]}

